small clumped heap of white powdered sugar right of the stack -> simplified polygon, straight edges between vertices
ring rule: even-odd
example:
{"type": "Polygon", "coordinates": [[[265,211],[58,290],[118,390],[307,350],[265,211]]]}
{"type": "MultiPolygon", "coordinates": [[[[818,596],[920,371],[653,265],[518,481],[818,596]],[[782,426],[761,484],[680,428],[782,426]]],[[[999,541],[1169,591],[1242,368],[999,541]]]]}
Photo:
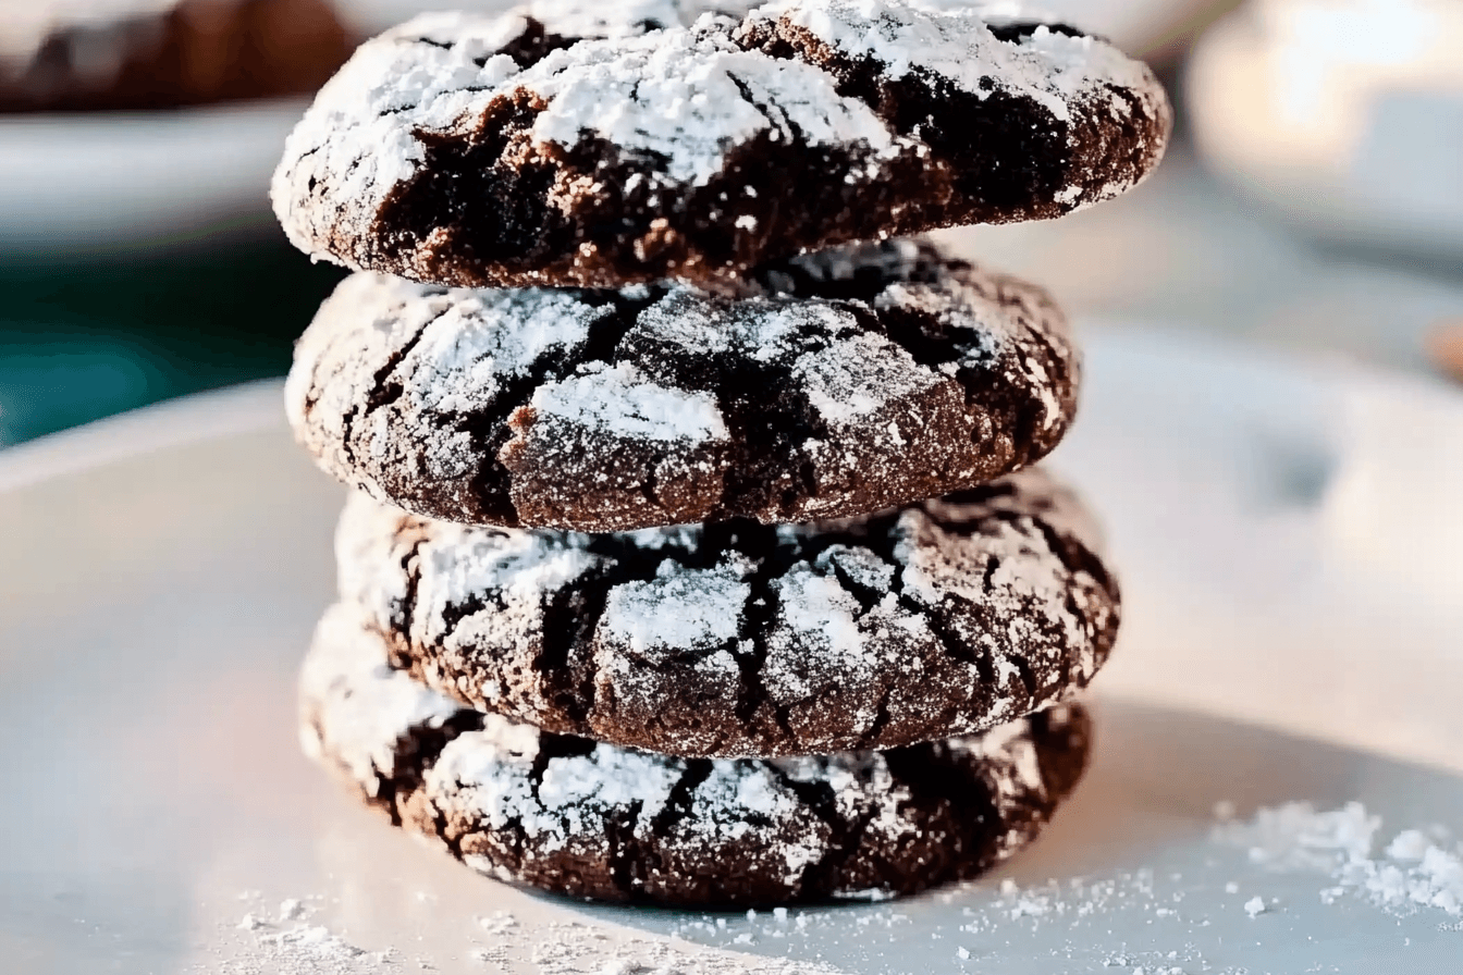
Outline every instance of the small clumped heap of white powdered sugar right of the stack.
{"type": "MultiPolygon", "coordinates": [[[[1251,862],[1270,870],[1328,874],[1333,884],[1320,892],[1325,903],[1355,895],[1397,915],[1429,908],[1463,915],[1463,843],[1441,826],[1404,829],[1374,855],[1380,830],[1381,817],[1361,803],[1324,811],[1285,803],[1249,820],[1222,817],[1213,838],[1246,848],[1251,862]]],[[[1251,911],[1251,915],[1265,909],[1261,902],[1251,911]]]]}

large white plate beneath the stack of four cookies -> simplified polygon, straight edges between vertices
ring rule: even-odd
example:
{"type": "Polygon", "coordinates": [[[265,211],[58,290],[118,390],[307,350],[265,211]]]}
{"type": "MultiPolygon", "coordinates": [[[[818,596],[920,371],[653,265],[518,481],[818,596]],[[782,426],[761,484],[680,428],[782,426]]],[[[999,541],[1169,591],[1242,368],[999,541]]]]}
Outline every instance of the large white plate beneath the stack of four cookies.
{"type": "Polygon", "coordinates": [[[1106,515],[1127,623],[1087,782],[983,883],[786,917],[515,892],[300,757],[294,667],[341,491],[275,386],[0,455],[6,971],[1454,971],[1460,918],[1324,903],[1323,873],[1210,829],[1222,800],[1356,800],[1383,839],[1463,827],[1463,401],[1090,339],[1056,462],[1106,515]]]}

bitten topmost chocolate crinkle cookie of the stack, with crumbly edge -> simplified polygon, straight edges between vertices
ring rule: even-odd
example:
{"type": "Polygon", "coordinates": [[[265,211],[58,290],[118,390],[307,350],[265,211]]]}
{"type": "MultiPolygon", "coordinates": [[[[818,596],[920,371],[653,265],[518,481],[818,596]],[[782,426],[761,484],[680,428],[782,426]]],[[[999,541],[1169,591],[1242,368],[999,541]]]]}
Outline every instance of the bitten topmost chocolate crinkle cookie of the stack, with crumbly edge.
{"type": "Polygon", "coordinates": [[[1138,183],[1169,133],[1151,72],[1059,23],[922,0],[693,23],[696,4],[632,6],[429,15],[364,44],[275,172],[290,238],[446,285],[712,282],[1061,216],[1138,183]]]}

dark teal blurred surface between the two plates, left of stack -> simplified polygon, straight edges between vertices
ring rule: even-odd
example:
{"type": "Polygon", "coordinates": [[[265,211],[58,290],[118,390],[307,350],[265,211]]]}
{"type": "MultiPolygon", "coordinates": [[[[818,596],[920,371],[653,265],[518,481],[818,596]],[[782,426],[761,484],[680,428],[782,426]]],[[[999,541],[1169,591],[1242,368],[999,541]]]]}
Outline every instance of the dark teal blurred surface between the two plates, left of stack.
{"type": "Polygon", "coordinates": [[[0,266],[0,446],[282,376],[341,276],[274,237],[0,266]]]}

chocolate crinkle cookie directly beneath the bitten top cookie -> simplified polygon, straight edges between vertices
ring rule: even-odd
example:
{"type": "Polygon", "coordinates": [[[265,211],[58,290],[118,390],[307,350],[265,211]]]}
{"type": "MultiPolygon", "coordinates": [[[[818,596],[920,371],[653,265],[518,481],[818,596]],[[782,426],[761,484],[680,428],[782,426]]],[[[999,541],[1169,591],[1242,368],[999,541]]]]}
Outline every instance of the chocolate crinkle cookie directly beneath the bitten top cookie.
{"type": "Polygon", "coordinates": [[[347,279],[296,348],[336,478],[478,525],[840,517],[1046,455],[1078,355],[1040,288],[885,241],[768,265],[762,294],[347,279]]]}

